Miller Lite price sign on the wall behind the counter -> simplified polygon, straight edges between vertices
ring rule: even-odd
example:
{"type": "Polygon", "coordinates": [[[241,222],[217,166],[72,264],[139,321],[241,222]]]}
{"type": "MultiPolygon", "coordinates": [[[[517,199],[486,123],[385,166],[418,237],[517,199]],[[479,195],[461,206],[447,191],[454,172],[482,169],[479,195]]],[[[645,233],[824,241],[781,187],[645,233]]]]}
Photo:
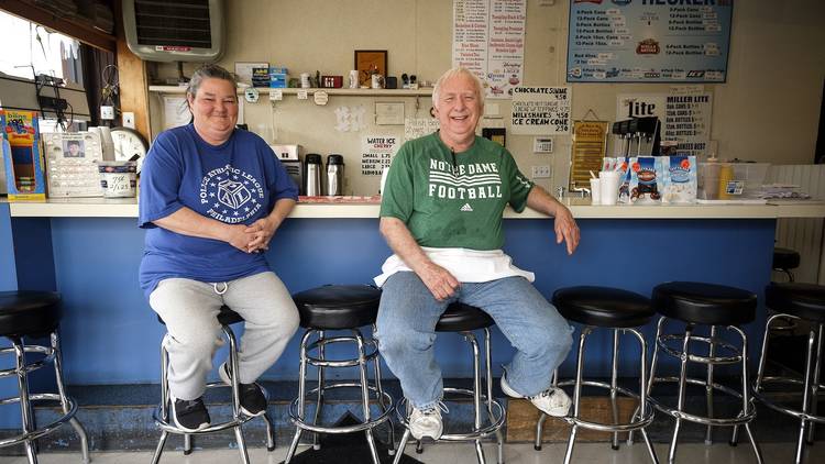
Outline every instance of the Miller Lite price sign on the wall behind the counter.
{"type": "Polygon", "coordinates": [[[616,97],[616,119],[659,117],[662,141],[675,141],[676,153],[704,157],[711,140],[713,93],[634,93],[616,97]]]}

